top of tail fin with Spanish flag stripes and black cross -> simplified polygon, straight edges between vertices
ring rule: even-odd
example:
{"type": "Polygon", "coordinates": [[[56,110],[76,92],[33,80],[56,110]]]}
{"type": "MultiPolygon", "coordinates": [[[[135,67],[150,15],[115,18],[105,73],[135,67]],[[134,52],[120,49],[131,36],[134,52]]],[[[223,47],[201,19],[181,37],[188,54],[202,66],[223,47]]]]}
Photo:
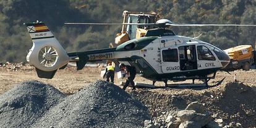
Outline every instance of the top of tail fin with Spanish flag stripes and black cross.
{"type": "Polygon", "coordinates": [[[43,22],[25,23],[32,40],[54,38],[48,27],[43,22]]]}

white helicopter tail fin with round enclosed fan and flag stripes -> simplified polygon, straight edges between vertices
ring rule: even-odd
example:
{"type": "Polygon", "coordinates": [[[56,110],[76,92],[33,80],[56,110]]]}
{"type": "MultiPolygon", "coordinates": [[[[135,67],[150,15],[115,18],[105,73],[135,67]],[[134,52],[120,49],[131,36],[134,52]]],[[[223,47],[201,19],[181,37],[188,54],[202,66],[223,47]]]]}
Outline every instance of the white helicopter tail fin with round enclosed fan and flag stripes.
{"type": "Polygon", "coordinates": [[[24,23],[33,41],[27,61],[35,66],[40,78],[52,79],[56,71],[66,66],[69,56],[43,22],[24,23]]]}

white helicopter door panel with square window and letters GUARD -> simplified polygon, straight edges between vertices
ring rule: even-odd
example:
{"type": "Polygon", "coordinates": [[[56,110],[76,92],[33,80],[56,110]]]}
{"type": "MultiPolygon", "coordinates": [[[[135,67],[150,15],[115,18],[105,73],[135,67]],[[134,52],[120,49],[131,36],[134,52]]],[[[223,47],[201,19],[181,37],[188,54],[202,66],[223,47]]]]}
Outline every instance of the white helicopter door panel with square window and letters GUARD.
{"type": "Polygon", "coordinates": [[[163,73],[178,72],[179,56],[177,48],[164,48],[161,49],[161,69],[163,73]]]}

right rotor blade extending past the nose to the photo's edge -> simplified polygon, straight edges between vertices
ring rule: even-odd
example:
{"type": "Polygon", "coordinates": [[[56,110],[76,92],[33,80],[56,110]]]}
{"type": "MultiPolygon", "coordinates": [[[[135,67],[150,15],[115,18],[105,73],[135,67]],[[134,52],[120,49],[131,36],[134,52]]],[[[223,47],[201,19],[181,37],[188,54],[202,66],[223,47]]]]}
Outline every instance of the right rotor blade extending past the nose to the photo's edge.
{"type": "Polygon", "coordinates": [[[204,26],[241,26],[241,27],[256,27],[256,25],[237,25],[237,24],[174,24],[165,23],[169,26],[181,26],[181,27],[204,27],[204,26]]]}

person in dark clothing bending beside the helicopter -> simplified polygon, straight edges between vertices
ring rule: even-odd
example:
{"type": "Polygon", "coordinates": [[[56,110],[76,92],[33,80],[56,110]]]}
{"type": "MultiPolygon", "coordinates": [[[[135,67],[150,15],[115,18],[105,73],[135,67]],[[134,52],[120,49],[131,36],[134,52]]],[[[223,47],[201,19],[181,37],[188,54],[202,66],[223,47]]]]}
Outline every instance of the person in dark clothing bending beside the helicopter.
{"type": "Polygon", "coordinates": [[[130,74],[130,76],[127,78],[126,83],[124,84],[124,87],[122,88],[123,90],[126,90],[127,86],[132,85],[132,90],[135,90],[135,84],[134,84],[134,79],[136,75],[136,69],[133,66],[126,66],[124,64],[119,64],[119,68],[121,70],[126,70],[126,74],[130,74]]]}

